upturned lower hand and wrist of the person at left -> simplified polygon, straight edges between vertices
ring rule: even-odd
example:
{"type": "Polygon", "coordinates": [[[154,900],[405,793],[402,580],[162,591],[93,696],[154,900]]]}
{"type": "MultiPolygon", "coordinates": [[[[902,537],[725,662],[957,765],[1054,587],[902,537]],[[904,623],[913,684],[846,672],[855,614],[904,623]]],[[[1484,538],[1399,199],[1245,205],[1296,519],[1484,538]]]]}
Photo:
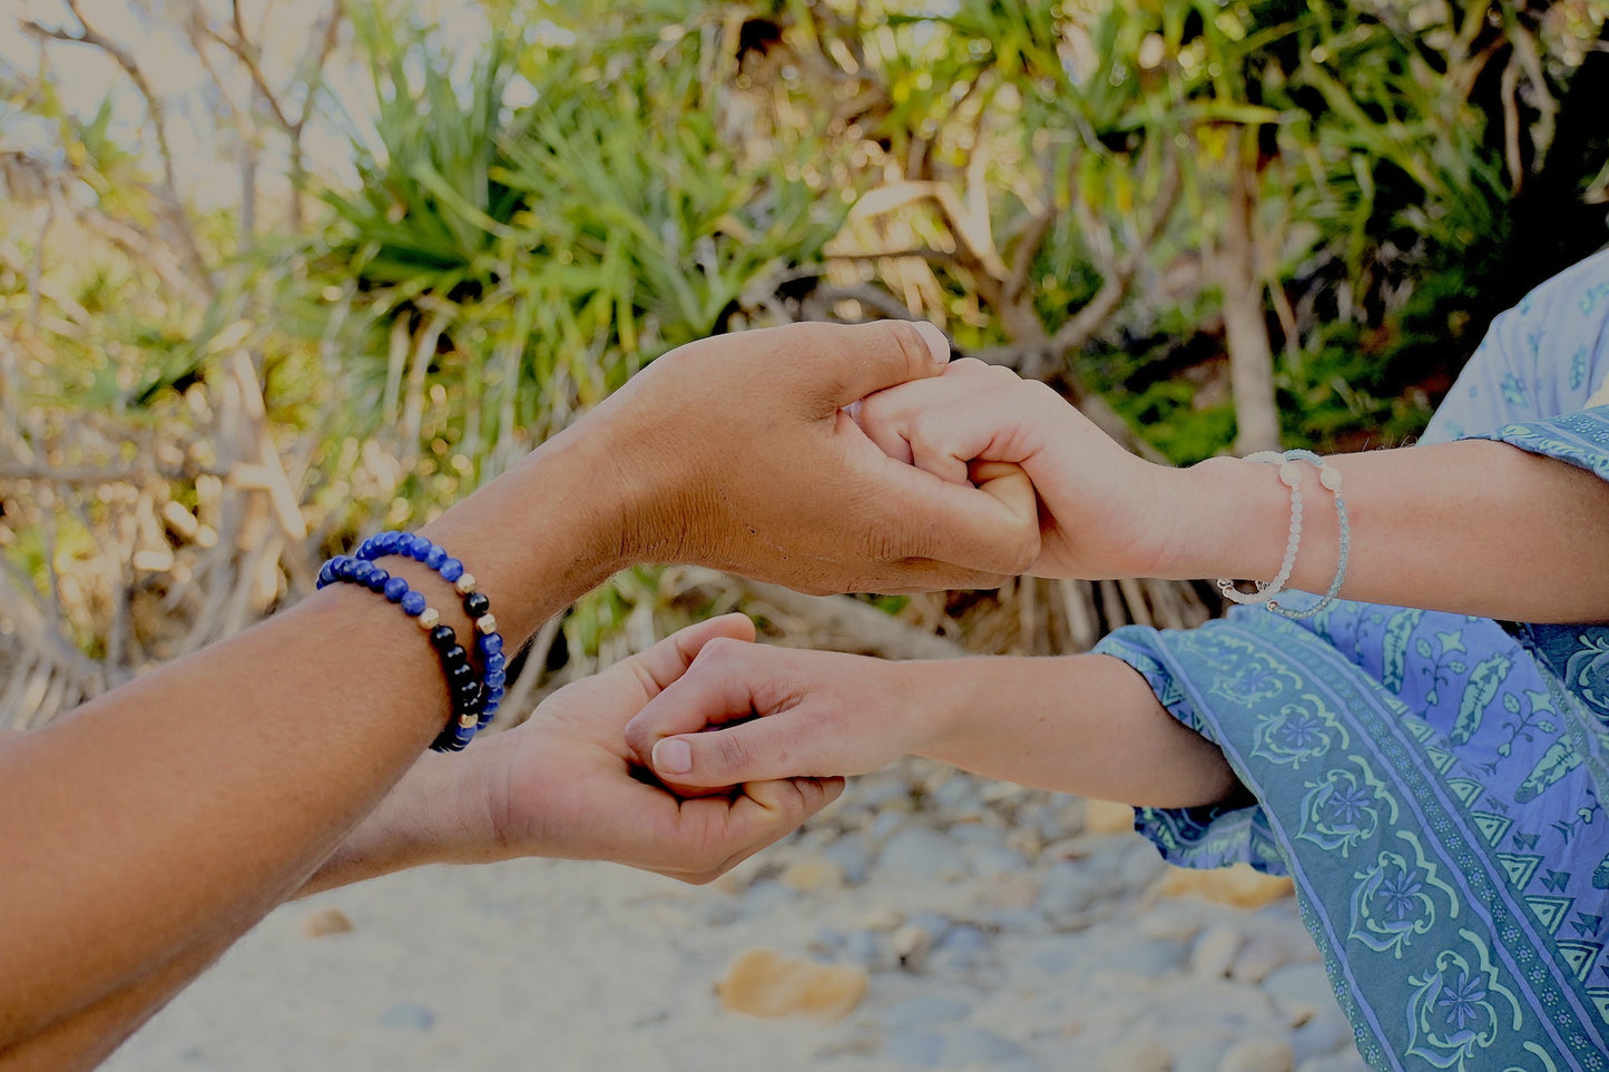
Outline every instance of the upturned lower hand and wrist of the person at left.
{"type": "Polygon", "coordinates": [[[528,721],[462,755],[426,755],[302,890],[418,863],[611,860],[708,882],[837,800],[838,779],[779,779],[679,800],[640,781],[626,723],[711,641],[748,641],[726,615],[550,695],[528,721]]]}

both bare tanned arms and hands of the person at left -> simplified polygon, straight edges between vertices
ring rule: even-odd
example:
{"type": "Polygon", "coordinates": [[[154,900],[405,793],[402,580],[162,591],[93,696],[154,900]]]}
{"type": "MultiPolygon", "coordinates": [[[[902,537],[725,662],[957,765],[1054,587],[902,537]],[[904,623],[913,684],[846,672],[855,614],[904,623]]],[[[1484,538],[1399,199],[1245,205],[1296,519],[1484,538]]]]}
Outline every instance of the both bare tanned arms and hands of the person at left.
{"type": "MultiPolygon", "coordinates": [[[[634,562],[817,592],[998,584],[1038,554],[1027,480],[944,483],[842,412],[936,375],[933,336],[798,325],[685,346],[422,531],[470,565],[510,650],[634,562]]],[[[467,634],[439,579],[386,565],[467,634]]],[[[512,855],[714,877],[837,784],[677,802],[631,779],[621,726],[710,641],[750,636],[695,626],[528,728],[420,760],[447,718],[439,665],[396,607],[333,586],[6,740],[0,1067],[93,1066],[301,892],[512,855]]]]}

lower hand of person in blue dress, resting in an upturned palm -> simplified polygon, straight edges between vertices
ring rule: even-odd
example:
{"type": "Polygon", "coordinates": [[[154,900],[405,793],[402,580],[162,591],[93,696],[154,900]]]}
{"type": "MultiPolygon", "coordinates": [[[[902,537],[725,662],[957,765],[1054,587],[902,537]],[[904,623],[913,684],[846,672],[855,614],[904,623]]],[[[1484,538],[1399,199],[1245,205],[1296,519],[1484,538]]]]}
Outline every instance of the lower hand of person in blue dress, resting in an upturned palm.
{"type": "Polygon", "coordinates": [[[673,792],[708,795],[785,776],[866,774],[925,744],[901,666],[862,655],[708,641],[626,726],[673,792]],[[729,726],[743,719],[745,724],[729,726]],[[729,726],[721,732],[702,732],[729,726]]]}

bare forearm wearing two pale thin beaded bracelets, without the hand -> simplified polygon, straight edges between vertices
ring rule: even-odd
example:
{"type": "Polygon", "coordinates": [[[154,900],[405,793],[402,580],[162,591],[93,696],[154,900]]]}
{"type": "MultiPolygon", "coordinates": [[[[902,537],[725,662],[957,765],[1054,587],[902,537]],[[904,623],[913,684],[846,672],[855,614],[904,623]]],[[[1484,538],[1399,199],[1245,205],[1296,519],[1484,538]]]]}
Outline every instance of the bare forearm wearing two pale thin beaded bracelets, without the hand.
{"type": "MultiPolygon", "coordinates": [[[[1517,621],[1609,618],[1609,486],[1595,475],[1483,439],[1329,464],[1352,525],[1342,597],[1517,621]]],[[[1335,510],[1316,470],[1303,464],[1302,473],[1289,586],[1324,592],[1339,554],[1335,510]]],[[[1276,467],[1213,459],[1175,470],[1168,488],[1178,528],[1162,576],[1273,578],[1290,518],[1276,467]]]]}

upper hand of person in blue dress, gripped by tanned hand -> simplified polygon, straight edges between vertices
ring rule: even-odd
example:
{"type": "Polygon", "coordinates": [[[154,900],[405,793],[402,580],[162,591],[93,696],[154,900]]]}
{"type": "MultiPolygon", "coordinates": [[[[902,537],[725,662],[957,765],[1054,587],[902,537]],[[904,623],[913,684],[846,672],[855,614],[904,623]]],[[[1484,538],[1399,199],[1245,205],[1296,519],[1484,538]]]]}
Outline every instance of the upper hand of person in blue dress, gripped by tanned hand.
{"type": "Polygon", "coordinates": [[[953,483],[1020,465],[1039,494],[1038,576],[1160,576],[1183,496],[1052,388],[964,357],[943,375],[866,398],[866,435],[896,460],[953,483]]]}

